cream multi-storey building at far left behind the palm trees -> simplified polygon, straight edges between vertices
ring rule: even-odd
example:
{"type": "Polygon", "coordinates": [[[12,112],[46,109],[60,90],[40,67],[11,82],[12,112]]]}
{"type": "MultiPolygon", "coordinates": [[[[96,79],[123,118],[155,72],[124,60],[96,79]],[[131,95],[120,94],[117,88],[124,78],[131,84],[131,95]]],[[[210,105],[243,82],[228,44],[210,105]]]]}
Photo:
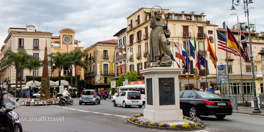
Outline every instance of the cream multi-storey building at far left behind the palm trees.
{"type": "MultiPolygon", "coordinates": [[[[17,52],[19,48],[24,49],[29,55],[44,59],[45,43],[47,41],[48,51],[51,49],[51,36],[53,33],[40,32],[35,30],[35,26],[29,25],[26,28],[9,28],[8,35],[4,41],[4,45],[1,48],[1,60],[4,60],[4,53],[7,50],[17,52]]],[[[22,78],[22,87],[25,87],[26,76],[32,76],[33,72],[23,69],[19,71],[18,79],[22,78]],[[20,72],[22,76],[20,77],[20,72]]],[[[15,87],[16,84],[16,67],[9,65],[1,67],[1,86],[3,82],[6,82],[6,87],[9,89],[15,87]],[[12,69],[12,70],[11,70],[12,69]]],[[[35,76],[42,76],[42,68],[35,69],[35,76]]],[[[20,81],[18,81],[18,87],[20,87],[20,81]]]]}

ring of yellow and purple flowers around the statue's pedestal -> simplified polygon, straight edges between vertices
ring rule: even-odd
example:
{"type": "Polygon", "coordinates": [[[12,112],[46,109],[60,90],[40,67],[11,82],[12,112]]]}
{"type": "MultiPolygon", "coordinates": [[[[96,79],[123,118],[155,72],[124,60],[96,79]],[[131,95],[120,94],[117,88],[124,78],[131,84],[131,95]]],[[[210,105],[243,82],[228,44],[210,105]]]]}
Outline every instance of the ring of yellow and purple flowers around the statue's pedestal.
{"type": "Polygon", "coordinates": [[[141,121],[137,117],[144,116],[143,113],[141,114],[133,114],[130,116],[129,120],[132,122],[135,122],[137,124],[146,125],[146,126],[157,126],[157,127],[170,127],[170,128],[194,128],[194,127],[200,127],[204,125],[204,122],[201,121],[198,117],[188,117],[188,116],[182,116],[183,119],[187,119],[190,121],[193,121],[194,123],[184,123],[184,124],[166,124],[166,123],[157,123],[157,122],[148,122],[148,121],[141,121]]]}

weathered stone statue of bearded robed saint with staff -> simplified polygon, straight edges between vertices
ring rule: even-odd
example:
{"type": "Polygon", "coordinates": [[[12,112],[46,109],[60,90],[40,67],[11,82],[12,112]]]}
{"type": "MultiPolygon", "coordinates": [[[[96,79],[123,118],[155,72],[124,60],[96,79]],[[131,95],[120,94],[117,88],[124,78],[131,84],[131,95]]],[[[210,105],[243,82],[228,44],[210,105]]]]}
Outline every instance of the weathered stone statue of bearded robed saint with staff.
{"type": "MultiPolygon", "coordinates": [[[[172,60],[170,58],[170,48],[168,49],[166,38],[170,37],[170,30],[165,21],[161,19],[160,11],[151,13],[150,19],[150,53],[147,55],[148,67],[170,67],[172,60]]],[[[169,42],[170,44],[170,42],[169,42]]]]}

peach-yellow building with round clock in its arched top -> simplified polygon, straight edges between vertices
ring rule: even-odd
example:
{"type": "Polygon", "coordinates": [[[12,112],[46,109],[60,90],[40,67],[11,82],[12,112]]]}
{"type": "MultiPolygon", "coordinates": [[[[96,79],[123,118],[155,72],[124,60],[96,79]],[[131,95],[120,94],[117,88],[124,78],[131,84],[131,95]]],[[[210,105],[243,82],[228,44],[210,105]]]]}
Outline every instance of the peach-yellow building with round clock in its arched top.
{"type": "MultiPolygon", "coordinates": [[[[59,31],[60,36],[52,36],[51,37],[51,54],[56,55],[59,53],[70,53],[72,50],[81,50],[83,51],[83,47],[80,47],[80,42],[74,39],[75,31],[70,28],[65,28],[59,31]]],[[[72,66],[74,67],[74,66],[72,66]]],[[[83,68],[77,67],[77,75],[80,75],[80,79],[84,79],[84,71],[83,68]]],[[[75,68],[72,69],[72,73],[74,76],[75,68]]],[[[52,76],[59,76],[58,70],[54,70],[52,76]]],[[[61,72],[61,76],[70,76],[69,67],[65,68],[61,72]]]]}

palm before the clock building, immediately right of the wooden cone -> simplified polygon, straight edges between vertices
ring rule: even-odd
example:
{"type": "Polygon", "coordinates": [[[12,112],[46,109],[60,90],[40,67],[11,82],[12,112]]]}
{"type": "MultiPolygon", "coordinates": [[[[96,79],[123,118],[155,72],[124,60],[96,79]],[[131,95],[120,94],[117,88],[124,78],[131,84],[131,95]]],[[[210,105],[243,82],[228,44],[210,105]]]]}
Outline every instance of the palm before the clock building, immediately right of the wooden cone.
{"type": "Polygon", "coordinates": [[[58,69],[58,72],[59,72],[59,86],[60,86],[60,82],[61,82],[61,71],[62,71],[62,68],[65,67],[65,62],[64,62],[64,59],[66,57],[66,53],[64,54],[61,54],[59,52],[57,52],[57,55],[49,55],[51,60],[53,60],[55,66],[51,66],[51,69],[52,71],[54,71],[55,69],[58,69]]]}

